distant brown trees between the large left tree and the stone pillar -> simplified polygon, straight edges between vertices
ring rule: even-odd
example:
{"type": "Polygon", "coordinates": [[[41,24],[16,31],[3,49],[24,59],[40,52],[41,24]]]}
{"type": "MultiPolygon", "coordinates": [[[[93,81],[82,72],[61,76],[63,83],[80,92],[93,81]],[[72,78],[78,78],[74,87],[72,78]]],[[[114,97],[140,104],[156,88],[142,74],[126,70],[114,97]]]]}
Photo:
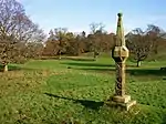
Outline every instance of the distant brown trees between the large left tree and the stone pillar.
{"type": "Polygon", "coordinates": [[[92,33],[86,34],[82,31],[79,34],[69,32],[65,28],[55,28],[50,31],[45,42],[43,55],[54,56],[61,54],[80,55],[86,52],[93,52],[96,58],[100,52],[107,52],[114,43],[114,33],[107,33],[102,23],[90,24],[92,33]]]}

